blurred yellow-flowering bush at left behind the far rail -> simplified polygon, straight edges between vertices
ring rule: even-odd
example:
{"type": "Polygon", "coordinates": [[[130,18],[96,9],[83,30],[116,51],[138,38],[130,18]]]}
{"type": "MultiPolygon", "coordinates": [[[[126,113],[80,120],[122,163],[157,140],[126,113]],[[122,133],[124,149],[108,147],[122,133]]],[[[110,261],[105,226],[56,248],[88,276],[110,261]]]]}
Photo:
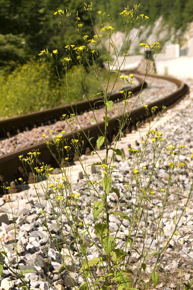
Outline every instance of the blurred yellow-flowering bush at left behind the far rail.
{"type": "Polygon", "coordinates": [[[1,77],[1,117],[21,115],[55,106],[51,74],[42,65],[31,61],[1,77]]]}

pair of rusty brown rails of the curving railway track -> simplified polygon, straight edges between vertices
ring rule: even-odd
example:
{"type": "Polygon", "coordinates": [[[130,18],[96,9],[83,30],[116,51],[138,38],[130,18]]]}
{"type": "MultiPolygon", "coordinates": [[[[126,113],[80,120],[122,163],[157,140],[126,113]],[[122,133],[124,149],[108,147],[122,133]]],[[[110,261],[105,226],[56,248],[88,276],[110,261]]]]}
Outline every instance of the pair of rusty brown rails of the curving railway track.
{"type": "MultiPolygon", "coordinates": [[[[140,76],[139,76],[140,77],[140,76]]],[[[168,96],[162,97],[158,100],[155,100],[154,102],[146,103],[149,105],[149,107],[152,106],[157,106],[159,111],[162,110],[162,106],[172,106],[175,104],[179,99],[181,99],[188,91],[188,87],[181,81],[174,79],[174,78],[168,78],[168,77],[158,77],[162,79],[169,80],[177,85],[177,90],[173,93],[171,93],[168,96]]],[[[141,83],[139,86],[136,86],[133,89],[133,93],[137,92],[140,90],[141,83]]],[[[120,93],[116,93],[112,95],[112,100],[117,100],[120,99],[120,93]]],[[[81,103],[77,103],[74,105],[73,110],[76,111],[77,113],[82,113],[84,111],[91,110],[91,108],[94,106],[94,104],[99,101],[100,99],[93,99],[91,102],[91,106],[88,102],[84,101],[81,103]],[[84,109],[83,109],[84,108],[84,109]]],[[[96,103],[99,104],[99,103],[96,103]]],[[[99,105],[100,106],[100,105],[99,105]]],[[[96,109],[96,105],[95,105],[96,109]]],[[[43,112],[38,112],[38,113],[32,113],[29,115],[24,115],[21,117],[16,117],[16,118],[11,118],[5,121],[0,122],[0,132],[1,136],[10,136],[14,135],[18,132],[21,132],[22,130],[30,129],[31,127],[38,126],[39,124],[51,124],[52,122],[55,122],[57,119],[62,118],[63,114],[69,114],[72,112],[72,109],[70,106],[68,107],[60,107],[60,108],[55,108],[55,109],[50,109],[46,110],[43,112]],[[35,120],[35,122],[34,122],[35,120]]],[[[147,116],[146,116],[146,111],[144,109],[144,106],[138,106],[136,109],[133,109],[130,115],[131,121],[129,123],[128,128],[126,129],[125,133],[131,132],[136,127],[136,123],[139,122],[145,122],[147,116]]],[[[117,118],[112,118],[109,120],[108,124],[108,140],[111,142],[112,138],[116,134],[116,130],[118,127],[118,120],[117,118]]],[[[127,127],[128,124],[126,124],[127,127]]],[[[99,123],[100,130],[104,131],[104,122],[99,123]]],[[[125,127],[125,128],[126,128],[125,127]]],[[[98,136],[101,136],[100,130],[98,126],[92,125],[87,128],[85,128],[84,132],[88,135],[89,137],[93,137],[92,139],[92,144],[95,146],[96,144],[96,139],[98,136]]],[[[124,129],[125,130],[125,129],[124,129]]],[[[74,132],[75,138],[79,135],[79,139],[84,142],[83,145],[83,150],[82,153],[86,155],[90,155],[90,146],[88,144],[88,141],[86,139],[86,136],[82,133],[80,130],[76,130],[74,132]]],[[[66,133],[65,134],[65,139],[71,140],[72,139],[72,134],[71,133],[66,133]]],[[[45,144],[44,141],[39,142],[36,145],[32,145],[26,148],[22,148],[21,150],[17,150],[13,153],[6,154],[0,157],[0,185],[6,185],[5,181],[10,182],[15,179],[18,179],[19,177],[23,177],[23,179],[26,182],[30,183],[30,179],[27,179],[27,175],[25,175],[24,168],[22,166],[21,161],[19,160],[18,156],[23,155],[26,156],[29,151],[32,150],[39,150],[41,152],[40,159],[38,162],[44,162],[45,164],[49,164],[50,167],[55,167],[55,159],[51,156],[51,153],[49,149],[47,148],[47,145],[45,144]]],[[[56,150],[54,151],[53,147],[53,154],[57,157],[57,152],[56,150]]],[[[68,153],[71,161],[73,162],[74,158],[76,157],[75,152],[71,151],[68,153]]],[[[27,171],[29,171],[29,168],[27,168],[27,171]]],[[[30,173],[29,175],[32,177],[30,173]]],[[[18,187],[16,184],[13,184],[13,192],[18,191],[18,187]]]]}

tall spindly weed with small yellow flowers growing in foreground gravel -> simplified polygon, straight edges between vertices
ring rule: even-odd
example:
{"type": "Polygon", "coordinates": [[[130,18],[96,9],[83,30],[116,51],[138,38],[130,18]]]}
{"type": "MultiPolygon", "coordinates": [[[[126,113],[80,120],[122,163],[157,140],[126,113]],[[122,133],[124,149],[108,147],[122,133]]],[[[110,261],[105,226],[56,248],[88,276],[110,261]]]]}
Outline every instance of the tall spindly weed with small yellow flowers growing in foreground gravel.
{"type": "MultiPolygon", "coordinates": [[[[72,93],[73,88],[68,87],[68,71],[70,62],[73,58],[82,77],[82,86],[80,88],[84,98],[87,98],[86,88],[84,87],[84,75],[82,73],[83,60],[87,63],[98,81],[101,102],[104,105],[104,131],[100,129],[100,124],[96,119],[96,110],[92,109],[93,120],[96,128],[101,131],[100,136],[90,137],[81,127],[76,112],[73,111],[63,115],[68,124],[73,138],[69,140],[65,137],[66,132],[61,131],[60,135],[53,139],[47,138],[47,133],[42,134],[49,150],[56,152],[53,157],[60,170],[56,166],[49,167],[47,164],[39,164],[39,152],[29,152],[26,157],[19,158],[27,169],[29,165],[34,176],[34,188],[38,201],[41,205],[40,211],[34,209],[38,220],[47,231],[46,247],[51,247],[60,260],[60,275],[64,272],[69,278],[68,285],[74,289],[149,289],[156,287],[159,282],[159,276],[167,277],[167,271],[164,271],[164,263],[170,253],[170,244],[176,245],[177,235],[181,235],[181,228],[188,221],[181,223],[181,218],[186,211],[193,184],[190,181],[190,191],[185,192],[181,188],[183,175],[187,174],[187,164],[182,162],[180,154],[184,145],[179,148],[167,144],[163,133],[155,131],[152,128],[152,118],[155,115],[156,106],[150,108],[144,105],[149,121],[149,130],[141,136],[141,144],[137,148],[128,148],[129,158],[126,160],[124,152],[120,149],[120,140],[124,136],[125,130],[130,123],[130,114],[137,101],[132,103],[131,85],[134,82],[132,73],[124,75],[123,68],[127,55],[129,54],[129,32],[134,22],[139,21],[139,29],[146,16],[137,15],[139,6],[135,5],[133,9],[128,7],[120,12],[125,26],[126,51],[124,59],[119,63],[119,52],[112,40],[113,19],[109,17],[109,23],[103,23],[104,13],[98,11],[99,26],[94,27],[95,35],[81,35],[81,19],[76,14],[76,33],[71,44],[66,44],[66,55],[62,62],[66,70],[66,93],[72,93]],[[102,42],[103,34],[107,34],[109,39],[108,51],[104,49],[104,55],[100,56],[107,68],[106,79],[100,79],[97,70],[99,46],[104,48],[102,42]],[[82,43],[77,42],[76,36],[81,36],[82,43]],[[114,61],[110,64],[110,48],[114,50],[114,61]],[[92,61],[88,58],[91,57],[92,61]],[[116,66],[115,66],[116,63],[116,66]],[[120,91],[120,97],[123,103],[110,100],[114,86],[109,87],[110,76],[114,74],[115,84],[122,82],[124,89],[120,91]],[[107,95],[107,91],[110,95],[107,95]],[[120,106],[123,106],[123,115],[119,115],[120,106]],[[150,112],[151,111],[151,112],[150,112]],[[108,125],[110,122],[110,113],[115,112],[118,119],[118,133],[112,141],[108,138],[108,125]],[[83,135],[76,133],[74,122],[79,124],[83,135]],[[96,147],[94,141],[96,139],[96,147]],[[82,153],[85,150],[85,144],[91,148],[91,158],[93,162],[86,163],[82,153]],[[105,157],[99,149],[105,148],[105,157]],[[152,155],[151,157],[149,157],[152,155]],[[57,157],[58,156],[58,157],[57,157]],[[73,183],[73,170],[69,166],[71,159],[76,157],[81,164],[85,174],[85,184],[83,189],[76,190],[73,183]],[[125,160],[124,168],[119,166],[116,160],[122,158],[125,160]],[[96,175],[92,175],[93,166],[96,166],[96,175]],[[129,168],[129,169],[128,169],[129,168]],[[163,174],[163,168],[165,175],[163,174]],[[116,184],[115,179],[119,171],[126,171],[127,178],[116,184]],[[60,175],[56,174],[60,172],[60,175]],[[178,187],[175,186],[174,178],[178,176],[178,187]],[[92,180],[94,176],[94,180],[92,180]],[[164,179],[164,186],[159,177],[164,179]],[[36,183],[39,182],[39,184],[36,183]],[[40,187],[44,195],[40,194],[40,187]],[[179,214],[179,200],[185,199],[183,210],[179,214]],[[57,229],[55,233],[50,228],[50,220],[55,220],[57,229]],[[167,222],[172,220],[170,227],[167,222]],[[77,275],[74,276],[76,272],[77,275]],[[151,285],[153,281],[153,286],[151,285]]],[[[85,3],[85,11],[92,22],[92,3],[85,3]]],[[[68,11],[58,10],[55,14],[59,15],[60,23],[66,29],[66,21],[70,24],[72,15],[68,11]]],[[[139,30],[138,30],[139,31],[139,30]]],[[[89,33],[88,33],[89,34],[89,33]]],[[[80,39],[80,37],[79,37],[80,39]]],[[[153,44],[141,43],[140,46],[149,48],[152,55],[156,57],[159,52],[159,43],[153,44]]],[[[50,53],[44,49],[40,52],[41,61],[45,66],[51,69],[55,65],[57,71],[57,49],[50,53]],[[49,63],[51,62],[51,66],[49,63]]],[[[147,60],[148,73],[151,61],[147,60]]],[[[60,80],[60,76],[56,75],[60,80]]],[[[115,85],[114,84],[114,85],[115,85]]],[[[61,83],[63,86],[63,84],[61,83]]],[[[64,86],[63,86],[64,87],[64,86]]],[[[96,96],[95,95],[95,96],[96,96]]],[[[140,99],[141,91],[138,95],[140,99]]],[[[70,97],[69,97],[70,102],[70,97]]],[[[163,110],[165,107],[162,108],[163,110]]],[[[157,116],[158,119],[158,116],[157,116]]],[[[140,123],[137,123],[140,129],[140,123]]],[[[193,157],[193,155],[192,155],[193,157]]],[[[41,158],[40,158],[41,159],[41,158]]],[[[25,187],[25,182],[22,181],[25,187]]],[[[9,187],[8,189],[11,190],[9,187]]],[[[26,196],[28,197],[27,193],[26,196]]],[[[30,199],[29,199],[30,203],[30,199]]],[[[31,204],[32,208],[33,205],[31,204]]],[[[13,216],[13,221],[15,219],[13,216]]],[[[16,234],[17,237],[17,234],[16,234]]],[[[3,247],[3,245],[2,245],[3,247]]],[[[15,242],[16,256],[17,242],[15,242]]],[[[49,252],[48,252],[49,253],[49,252]]],[[[25,282],[26,271],[22,271],[18,264],[16,271],[12,267],[12,259],[8,260],[5,251],[1,251],[1,274],[2,267],[11,269],[17,277],[23,279],[23,287],[30,289],[29,284],[25,282]]],[[[51,263],[51,258],[48,257],[51,263]]],[[[30,271],[30,270],[29,270],[30,271]]],[[[49,273],[49,272],[48,272],[49,273]]],[[[48,279],[48,282],[49,279],[48,279]]],[[[22,284],[21,284],[22,286],[22,284]]],[[[52,285],[50,285],[50,289],[52,285]]]]}

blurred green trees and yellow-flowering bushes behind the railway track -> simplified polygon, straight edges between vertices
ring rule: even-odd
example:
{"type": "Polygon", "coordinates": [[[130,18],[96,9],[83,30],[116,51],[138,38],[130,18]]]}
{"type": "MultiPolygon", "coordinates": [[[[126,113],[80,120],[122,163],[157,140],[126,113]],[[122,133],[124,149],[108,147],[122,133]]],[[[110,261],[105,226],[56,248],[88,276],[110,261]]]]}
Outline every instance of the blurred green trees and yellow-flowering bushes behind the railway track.
{"type": "MultiPolygon", "coordinates": [[[[141,0],[140,3],[138,13],[149,16],[148,24],[153,24],[162,15],[163,19],[177,30],[185,28],[187,23],[193,20],[192,0],[141,0]]],[[[92,15],[96,24],[96,12],[101,10],[106,12],[104,21],[108,20],[109,14],[115,18],[114,27],[120,30],[124,27],[119,13],[125,6],[132,8],[133,4],[139,3],[133,0],[93,0],[92,4],[92,15]]],[[[64,90],[50,71],[38,63],[38,53],[48,48],[50,52],[57,49],[59,59],[67,56],[64,46],[71,44],[71,41],[58,25],[59,18],[53,15],[59,9],[71,12],[71,19],[75,19],[78,10],[83,23],[82,34],[94,34],[83,6],[82,0],[0,0],[1,119],[58,106],[60,101],[65,102],[64,90]]],[[[81,85],[81,76],[74,65],[68,75],[70,84],[75,85],[74,76],[81,85]]],[[[62,74],[62,66],[59,66],[59,70],[62,74]]],[[[104,74],[102,63],[100,74],[104,74]]],[[[98,93],[98,84],[86,67],[84,75],[87,93],[92,97],[98,93]]],[[[72,92],[70,98],[73,100],[74,97],[81,100],[83,95],[74,95],[72,92]]]]}

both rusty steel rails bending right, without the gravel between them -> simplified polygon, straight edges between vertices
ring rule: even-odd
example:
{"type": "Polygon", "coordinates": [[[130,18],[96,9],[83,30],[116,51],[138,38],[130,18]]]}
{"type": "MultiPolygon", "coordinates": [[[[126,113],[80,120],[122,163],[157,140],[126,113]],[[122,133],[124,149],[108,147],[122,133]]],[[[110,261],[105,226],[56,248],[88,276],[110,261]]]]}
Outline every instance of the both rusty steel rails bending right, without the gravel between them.
{"type": "MultiPolygon", "coordinates": [[[[140,77],[140,75],[139,75],[139,77],[140,77]]],[[[161,111],[163,105],[166,107],[169,107],[172,104],[176,103],[179,99],[181,99],[187,93],[188,86],[186,86],[182,81],[174,79],[174,78],[160,77],[160,76],[158,78],[167,79],[169,81],[172,81],[178,87],[178,89],[175,92],[171,93],[170,95],[163,97],[163,98],[160,98],[159,100],[155,100],[155,102],[151,102],[149,104],[147,103],[149,105],[149,107],[157,106],[158,110],[161,111]]],[[[136,87],[135,91],[137,91],[139,89],[140,89],[139,87],[136,87]]],[[[112,100],[116,100],[117,98],[120,98],[120,94],[119,93],[113,94],[112,98],[113,98],[112,100]]],[[[96,102],[96,99],[94,99],[92,101],[93,101],[93,105],[94,105],[94,103],[96,102]]],[[[75,108],[79,112],[82,110],[82,108],[84,108],[85,110],[91,109],[90,105],[86,104],[86,102],[81,102],[80,104],[76,104],[75,108]]],[[[70,108],[67,108],[66,110],[67,110],[67,113],[69,114],[70,108]]],[[[46,115],[51,114],[51,112],[53,112],[53,110],[46,110],[46,111],[47,112],[44,112],[44,114],[42,114],[42,112],[39,112],[38,114],[36,114],[36,116],[41,115],[41,118],[44,119],[44,122],[45,122],[46,115]]],[[[63,107],[57,108],[56,111],[57,111],[57,113],[56,112],[55,113],[56,113],[57,118],[58,117],[60,118],[61,115],[65,113],[65,109],[63,107]]],[[[24,115],[21,117],[14,118],[15,120],[16,119],[18,120],[17,124],[15,122],[14,130],[16,128],[16,131],[17,131],[17,128],[19,128],[18,126],[21,126],[21,124],[27,124],[24,122],[26,122],[26,120],[29,120],[29,118],[33,119],[34,114],[35,113],[29,114],[28,116],[24,115]],[[19,121],[19,119],[21,119],[21,120],[19,121]],[[18,124],[20,124],[20,125],[18,125],[18,124]]],[[[129,117],[131,118],[131,122],[129,123],[129,126],[128,126],[125,133],[129,133],[136,126],[136,123],[138,121],[144,122],[144,120],[147,118],[144,106],[142,105],[136,109],[133,109],[129,117]]],[[[39,120],[39,122],[40,122],[40,120],[39,120]]],[[[1,121],[0,128],[2,128],[2,126],[5,126],[5,124],[7,124],[6,125],[7,128],[12,128],[11,127],[12,126],[11,120],[1,121]],[[11,126],[10,126],[10,124],[11,124],[11,126]]],[[[99,126],[100,126],[100,130],[103,131],[104,130],[104,122],[100,122],[99,126]]],[[[117,127],[118,127],[118,120],[116,118],[110,119],[109,125],[107,127],[108,128],[108,139],[110,142],[111,142],[112,138],[114,137],[114,135],[116,134],[117,127]]],[[[89,137],[93,137],[93,139],[92,139],[93,146],[95,146],[95,144],[96,144],[97,137],[101,135],[100,130],[96,124],[92,125],[90,127],[87,127],[84,130],[86,134],[89,133],[89,137]]],[[[6,130],[4,130],[4,132],[5,131],[6,130]]],[[[75,131],[74,134],[75,134],[75,137],[77,137],[77,135],[79,135],[79,138],[81,138],[81,140],[84,141],[83,154],[86,154],[86,155],[90,154],[90,147],[89,147],[88,141],[86,139],[86,136],[80,130],[75,131]]],[[[72,134],[66,133],[65,139],[71,140],[72,134]]],[[[29,151],[38,150],[38,149],[41,152],[41,155],[40,155],[41,162],[49,164],[50,167],[54,167],[55,160],[53,159],[53,157],[51,157],[51,153],[50,153],[49,149],[47,148],[45,142],[42,141],[42,142],[37,143],[35,146],[32,145],[32,146],[23,148],[21,150],[18,150],[18,151],[15,151],[13,153],[6,154],[6,155],[3,155],[0,157],[0,185],[7,186],[7,184],[5,184],[5,181],[10,182],[12,180],[18,179],[19,177],[23,177],[24,180],[26,180],[26,182],[30,182],[27,180],[27,175],[25,175],[24,168],[22,167],[22,163],[19,160],[18,156],[19,155],[26,156],[29,151]]],[[[53,151],[53,153],[57,155],[56,151],[53,151]]],[[[69,156],[70,156],[71,160],[73,161],[75,158],[75,152],[70,152],[69,156]]],[[[27,170],[29,171],[29,168],[27,168],[27,170]]],[[[16,186],[15,186],[15,190],[18,190],[16,186]]],[[[13,185],[13,191],[14,191],[14,185],[13,185]]]]}

